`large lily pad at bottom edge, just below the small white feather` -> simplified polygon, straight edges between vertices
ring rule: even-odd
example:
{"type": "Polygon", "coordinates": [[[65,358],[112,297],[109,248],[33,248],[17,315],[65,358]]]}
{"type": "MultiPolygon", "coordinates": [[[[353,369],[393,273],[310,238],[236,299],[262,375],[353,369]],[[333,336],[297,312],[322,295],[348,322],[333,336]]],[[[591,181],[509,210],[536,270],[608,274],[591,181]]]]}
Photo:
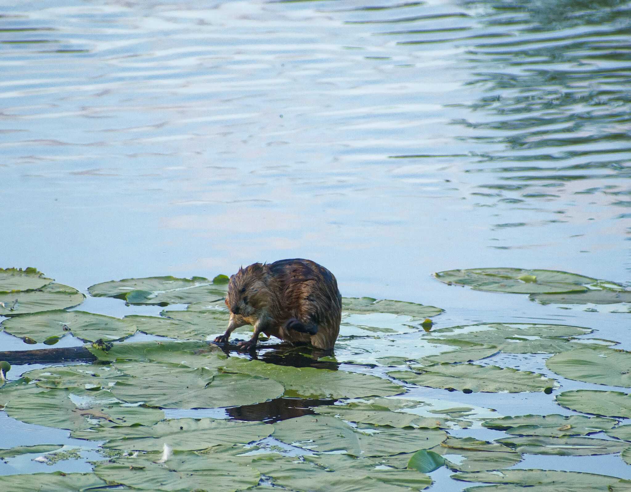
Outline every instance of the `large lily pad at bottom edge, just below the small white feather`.
{"type": "MultiPolygon", "coordinates": [[[[223,450],[221,450],[223,451],[223,450]]],[[[98,464],[94,472],[108,484],[169,492],[235,492],[259,483],[256,468],[242,465],[228,452],[174,452],[165,464],[160,453],[119,457],[98,464]]]]}

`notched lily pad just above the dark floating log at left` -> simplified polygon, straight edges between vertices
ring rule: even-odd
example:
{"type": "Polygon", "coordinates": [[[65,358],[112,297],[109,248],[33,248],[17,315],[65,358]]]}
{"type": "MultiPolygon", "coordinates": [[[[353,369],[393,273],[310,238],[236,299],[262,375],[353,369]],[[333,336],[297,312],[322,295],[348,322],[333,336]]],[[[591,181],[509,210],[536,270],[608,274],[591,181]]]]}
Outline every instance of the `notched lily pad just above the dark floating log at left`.
{"type": "Polygon", "coordinates": [[[16,316],[0,325],[16,337],[29,337],[36,342],[59,339],[67,333],[81,340],[118,340],[136,332],[136,328],[119,318],[95,315],[85,311],[44,311],[32,315],[16,316]]]}

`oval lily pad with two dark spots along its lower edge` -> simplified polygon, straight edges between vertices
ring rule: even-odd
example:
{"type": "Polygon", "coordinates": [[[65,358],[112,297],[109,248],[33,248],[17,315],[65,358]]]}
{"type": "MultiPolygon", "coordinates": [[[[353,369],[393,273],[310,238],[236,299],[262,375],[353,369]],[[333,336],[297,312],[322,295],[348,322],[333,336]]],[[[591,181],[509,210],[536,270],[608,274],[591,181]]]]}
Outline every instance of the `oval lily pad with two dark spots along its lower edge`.
{"type": "Polygon", "coordinates": [[[473,392],[489,393],[543,391],[554,384],[554,380],[529,371],[475,364],[443,363],[414,371],[392,371],[387,374],[406,383],[430,388],[452,388],[459,391],[469,389],[473,392]]]}

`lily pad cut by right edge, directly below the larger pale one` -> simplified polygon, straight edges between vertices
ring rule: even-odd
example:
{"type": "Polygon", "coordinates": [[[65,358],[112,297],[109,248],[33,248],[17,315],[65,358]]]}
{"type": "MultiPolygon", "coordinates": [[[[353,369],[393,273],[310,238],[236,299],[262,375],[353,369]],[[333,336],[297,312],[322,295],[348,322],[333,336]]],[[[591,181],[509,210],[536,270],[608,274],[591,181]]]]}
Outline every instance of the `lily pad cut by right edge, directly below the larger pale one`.
{"type": "Polygon", "coordinates": [[[631,395],[618,391],[575,390],[557,395],[562,407],[604,417],[631,417],[631,395]]]}

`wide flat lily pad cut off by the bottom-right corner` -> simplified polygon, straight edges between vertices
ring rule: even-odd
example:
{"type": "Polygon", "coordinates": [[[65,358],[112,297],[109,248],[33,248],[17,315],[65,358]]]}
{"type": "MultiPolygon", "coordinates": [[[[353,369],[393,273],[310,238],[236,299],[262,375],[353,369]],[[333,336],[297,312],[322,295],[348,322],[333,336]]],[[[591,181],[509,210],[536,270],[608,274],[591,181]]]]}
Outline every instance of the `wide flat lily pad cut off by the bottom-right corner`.
{"type": "Polygon", "coordinates": [[[560,472],[550,470],[502,470],[501,472],[457,473],[452,479],[466,482],[502,484],[492,487],[475,486],[466,492],[516,492],[524,488],[528,492],[628,492],[631,480],[582,472],[560,472]],[[504,485],[505,484],[505,485],[504,485]]]}

